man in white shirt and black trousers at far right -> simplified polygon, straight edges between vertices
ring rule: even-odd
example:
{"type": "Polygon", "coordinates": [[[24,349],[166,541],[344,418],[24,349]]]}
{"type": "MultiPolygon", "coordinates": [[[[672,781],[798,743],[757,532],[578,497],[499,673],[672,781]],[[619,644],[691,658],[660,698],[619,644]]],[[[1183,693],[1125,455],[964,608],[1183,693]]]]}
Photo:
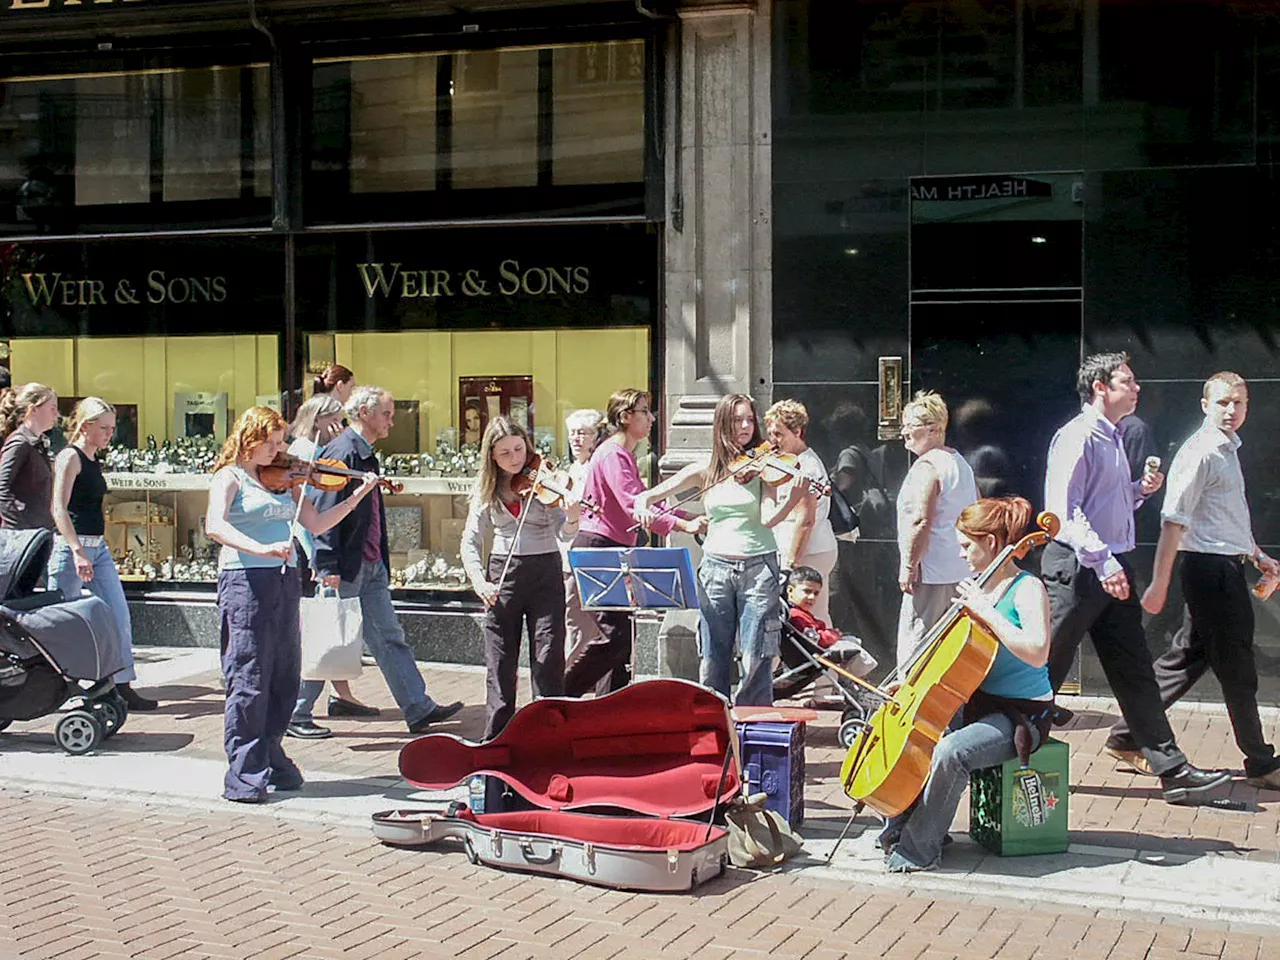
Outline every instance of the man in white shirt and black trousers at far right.
{"type": "MultiPolygon", "coordinates": [[[[1239,374],[1222,371],[1204,381],[1201,398],[1204,424],[1181,445],[1169,468],[1161,511],[1164,525],[1156,545],[1156,568],[1142,595],[1148,613],[1160,613],[1169,598],[1174,559],[1181,552],[1181,586],[1187,599],[1183,628],[1169,652],[1156,660],[1160,699],[1167,708],[1212,669],[1244,754],[1244,776],[1252,786],[1280,790],[1280,758],[1266,741],[1258,718],[1258,671],[1253,659],[1253,605],[1244,581],[1244,563],[1280,575],[1253,539],[1244,475],[1238,451],[1249,408],[1249,388],[1239,374]]],[[[1112,754],[1135,749],[1124,721],[1111,728],[1112,754]]],[[[1140,769],[1140,767],[1138,767],[1140,769]]]]}

